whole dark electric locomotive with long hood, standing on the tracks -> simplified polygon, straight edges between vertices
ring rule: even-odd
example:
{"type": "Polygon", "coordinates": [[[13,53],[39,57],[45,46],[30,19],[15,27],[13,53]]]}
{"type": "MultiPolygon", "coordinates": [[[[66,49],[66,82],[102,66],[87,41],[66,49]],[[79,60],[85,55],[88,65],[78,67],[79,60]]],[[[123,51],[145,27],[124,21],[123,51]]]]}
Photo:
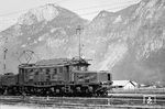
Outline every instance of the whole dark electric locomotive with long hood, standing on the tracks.
{"type": "Polygon", "coordinates": [[[88,70],[81,57],[43,59],[19,65],[19,74],[0,78],[1,95],[91,97],[107,96],[111,85],[109,72],[88,70]]]}

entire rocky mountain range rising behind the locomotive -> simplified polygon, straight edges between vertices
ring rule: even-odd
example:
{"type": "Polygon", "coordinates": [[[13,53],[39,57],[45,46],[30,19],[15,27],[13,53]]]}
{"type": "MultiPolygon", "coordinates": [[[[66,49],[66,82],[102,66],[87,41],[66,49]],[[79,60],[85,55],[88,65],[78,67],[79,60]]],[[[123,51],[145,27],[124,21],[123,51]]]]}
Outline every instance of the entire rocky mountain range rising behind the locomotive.
{"type": "MultiPolygon", "coordinates": [[[[15,72],[23,50],[34,51],[40,58],[76,56],[76,28],[81,25],[81,50],[92,59],[90,69],[110,70],[113,79],[165,83],[164,19],[164,0],[142,0],[118,12],[103,10],[92,21],[47,4],[20,17],[0,36],[9,37],[8,70],[15,72]]],[[[1,42],[2,48],[4,39],[1,42]]]]}

